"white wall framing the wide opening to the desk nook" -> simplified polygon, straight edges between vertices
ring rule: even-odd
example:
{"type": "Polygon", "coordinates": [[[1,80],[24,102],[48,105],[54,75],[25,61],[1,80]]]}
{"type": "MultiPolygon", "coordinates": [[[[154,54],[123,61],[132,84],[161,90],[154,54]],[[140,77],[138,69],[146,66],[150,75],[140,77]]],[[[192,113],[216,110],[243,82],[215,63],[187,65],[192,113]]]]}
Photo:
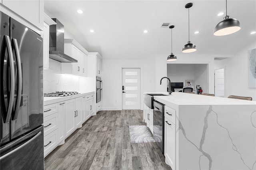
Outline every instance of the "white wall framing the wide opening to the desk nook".
{"type": "MultiPolygon", "coordinates": [[[[204,70],[204,66],[202,68],[198,68],[194,70],[196,74],[202,75],[194,76],[196,81],[201,81],[204,79],[204,75],[206,74],[206,84],[199,84],[200,86],[204,86],[203,90],[206,93],[214,94],[214,57],[224,57],[222,55],[193,55],[193,54],[179,54],[177,55],[177,61],[166,61],[168,55],[156,55],[156,91],[157,92],[166,92],[167,81],[164,81],[162,85],[160,85],[160,80],[162,77],[167,76],[167,64],[202,64],[206,66],[206,71],[204,70]]],[[[198,65],[199,66],[199,65],[198,65]]],[[[198,83],[196,82],[195,83],[198,83]]]]}

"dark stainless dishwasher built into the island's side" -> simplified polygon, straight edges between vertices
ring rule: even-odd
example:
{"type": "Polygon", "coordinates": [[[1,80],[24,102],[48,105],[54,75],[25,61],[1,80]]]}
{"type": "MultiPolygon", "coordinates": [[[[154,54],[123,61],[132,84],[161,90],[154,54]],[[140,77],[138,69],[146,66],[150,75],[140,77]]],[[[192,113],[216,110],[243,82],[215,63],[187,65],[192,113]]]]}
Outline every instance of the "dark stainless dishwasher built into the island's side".
{"type": "Polygon", "coordinates": [[[153,107],[153,137],[164,154],[164,104],[154,100],[153,107]]]}

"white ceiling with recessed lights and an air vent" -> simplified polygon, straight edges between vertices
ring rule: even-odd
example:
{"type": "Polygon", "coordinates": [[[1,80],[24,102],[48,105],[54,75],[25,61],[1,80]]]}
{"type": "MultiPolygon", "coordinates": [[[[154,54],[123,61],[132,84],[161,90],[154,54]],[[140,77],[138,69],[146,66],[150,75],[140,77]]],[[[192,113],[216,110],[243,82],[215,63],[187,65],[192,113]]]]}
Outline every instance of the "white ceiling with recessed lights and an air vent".
{"type": "Polygon", "coordinates": [[[165,22],[175,26],[172,52],[184,55],[189,2],[190,41],[197,51],[186,55],[235,55],[256,41],[256,34],[250,34],[256,31],[256,0],[227,1],[228,15],[240,21],[241,30],[221,37],[213,31],[225,16],[225,0],[45,0],[44,8],[89,52],[99,52],[104,59],[148,59],[171,53],[171,29],[161,28],[165,22]],[[220,12],[224,15],[217,16],[220,12]]]}

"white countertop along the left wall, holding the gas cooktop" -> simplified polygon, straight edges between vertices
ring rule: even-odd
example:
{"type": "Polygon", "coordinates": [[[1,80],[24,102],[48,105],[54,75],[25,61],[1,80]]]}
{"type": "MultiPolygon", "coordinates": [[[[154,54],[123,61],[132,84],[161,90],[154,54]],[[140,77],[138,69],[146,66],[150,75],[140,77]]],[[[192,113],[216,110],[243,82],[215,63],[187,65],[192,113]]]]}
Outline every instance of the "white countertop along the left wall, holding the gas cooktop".
{"type": "Polygon", "coordinates": [[[58,102],[63,102],[63,101],[74,99],[74,98],[79,98],[92,93],[94,92],[87,92],[87,93],[75,94],[75,95],[64,96],[64,97],[44,97],[44,106],[58,103],[58,102]]]}

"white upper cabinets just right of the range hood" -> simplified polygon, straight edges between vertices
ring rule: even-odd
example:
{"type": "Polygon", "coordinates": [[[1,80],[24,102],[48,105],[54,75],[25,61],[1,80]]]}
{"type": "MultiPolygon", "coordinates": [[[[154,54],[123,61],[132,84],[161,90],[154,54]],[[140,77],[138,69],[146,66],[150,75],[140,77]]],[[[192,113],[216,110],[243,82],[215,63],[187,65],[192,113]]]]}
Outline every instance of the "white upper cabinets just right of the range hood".
{"type": "Polygon", "coordinates": [[[87,76],[87,55],[88,53],[76,40],[64,39],[64,53],[76,59],[77,63],[62,63],[63,74],[76,74],[87,76]]]}

